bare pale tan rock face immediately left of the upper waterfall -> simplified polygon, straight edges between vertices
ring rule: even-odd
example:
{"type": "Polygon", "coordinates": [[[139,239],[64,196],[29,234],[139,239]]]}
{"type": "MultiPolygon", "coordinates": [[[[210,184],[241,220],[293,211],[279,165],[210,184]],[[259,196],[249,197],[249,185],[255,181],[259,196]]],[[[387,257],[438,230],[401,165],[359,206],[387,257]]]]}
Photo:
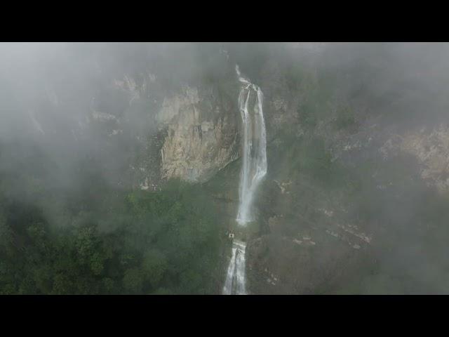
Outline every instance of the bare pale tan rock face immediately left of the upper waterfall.
{"type": "Polygon", "coordinates": [[[166,129],[161,148],[161,178],[205,182],[239,157],[238,111],[213,88],[185,87],[164,98],[156,115],[166,129]]]}

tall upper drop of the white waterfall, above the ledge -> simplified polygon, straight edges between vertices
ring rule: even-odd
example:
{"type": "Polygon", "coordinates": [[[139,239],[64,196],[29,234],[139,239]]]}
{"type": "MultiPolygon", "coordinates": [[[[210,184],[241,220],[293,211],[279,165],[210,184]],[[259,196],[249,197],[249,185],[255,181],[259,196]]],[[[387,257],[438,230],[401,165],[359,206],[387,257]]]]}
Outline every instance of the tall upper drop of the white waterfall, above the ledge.
{"type": "Polygon", "coordinates": [[[245,225],[254,220],[254,194],[267,174],[267,135],[262,110],[262,91],[241,75],[238,65],[236,72],[241,83],[239,110],[243,121],[243,166],[236,220],[240,225],[245,225]],[[250,109],[251,105],[253,109],[250,109]]]}

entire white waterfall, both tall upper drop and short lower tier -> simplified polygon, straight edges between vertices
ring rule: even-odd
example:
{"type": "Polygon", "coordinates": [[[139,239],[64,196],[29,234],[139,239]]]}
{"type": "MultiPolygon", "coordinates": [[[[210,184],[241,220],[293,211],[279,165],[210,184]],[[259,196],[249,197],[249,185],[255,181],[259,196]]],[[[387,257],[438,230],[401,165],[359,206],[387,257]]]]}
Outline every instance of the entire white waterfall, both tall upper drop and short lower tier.
{"type": "MultiPolygon", "coordinates": [[[[253,199],[262,178],[267,174],[267,137],[262,111],[262,91],[244,78],[236,65],[241,84],[239,110],[243,121],[243,165],[239,187],[237,222],[246,225],[254,220],[253,199]],[[250,109],[250,106],[253,109],[250,109]]],[[[232,257],[227,268],[224,295],[246,295],[246,244],[234,240],[232,257]]]]}

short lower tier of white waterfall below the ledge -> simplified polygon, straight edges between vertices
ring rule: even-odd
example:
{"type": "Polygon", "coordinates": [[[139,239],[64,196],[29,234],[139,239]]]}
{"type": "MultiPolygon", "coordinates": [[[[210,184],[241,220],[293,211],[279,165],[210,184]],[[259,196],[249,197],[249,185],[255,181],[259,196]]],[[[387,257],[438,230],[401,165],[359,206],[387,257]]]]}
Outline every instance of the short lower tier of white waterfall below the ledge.
{"type": "Polygon", "coordinates": [[[227,268],[223,295],[246,295],[245,281],[245,251],[244,242],[234,240],[232,244],[232,258],[227,268]]]}

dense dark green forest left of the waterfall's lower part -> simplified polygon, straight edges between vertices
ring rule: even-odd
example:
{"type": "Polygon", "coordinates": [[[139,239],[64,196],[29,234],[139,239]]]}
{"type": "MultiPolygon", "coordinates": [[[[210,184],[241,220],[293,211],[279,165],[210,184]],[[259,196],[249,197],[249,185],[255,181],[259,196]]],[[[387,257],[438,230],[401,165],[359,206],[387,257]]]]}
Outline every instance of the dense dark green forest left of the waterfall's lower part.
{"type": "Polygon", "coordinates": [[[66,200],[58,209],[1,191],[1,293],[217,291],[220,236],[201,187],[173,181],[160,192],[126,192],[89,184],[91,191],[46,194],[48,203],[66,200]]]}

